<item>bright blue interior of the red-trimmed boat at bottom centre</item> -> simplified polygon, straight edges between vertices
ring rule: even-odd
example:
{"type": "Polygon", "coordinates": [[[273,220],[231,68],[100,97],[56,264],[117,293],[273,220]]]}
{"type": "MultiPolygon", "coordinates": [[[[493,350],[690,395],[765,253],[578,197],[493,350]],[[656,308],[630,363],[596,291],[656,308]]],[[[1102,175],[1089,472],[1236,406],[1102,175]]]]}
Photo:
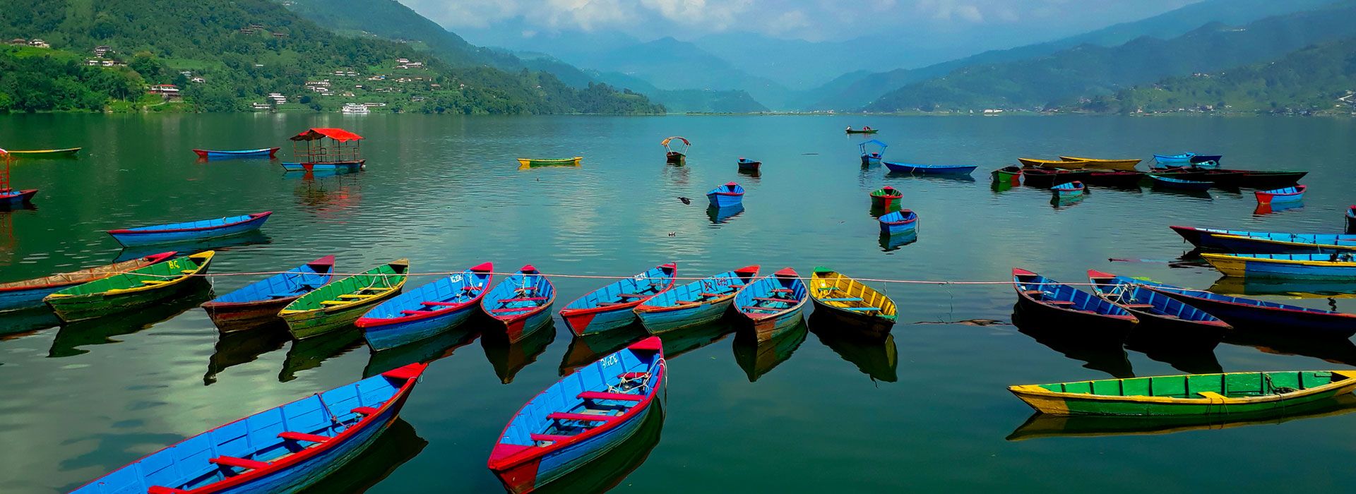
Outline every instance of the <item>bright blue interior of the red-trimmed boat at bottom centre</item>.
{"type": "Polygon", "coordinates": [[[599,426],[603,420],[551,418],[555,413],[621,416],[639,405],[636,398],[606,399],[607,394],[645,397],[658,384],[658,353],[622,349],[560,379],[518,410],[500,444],[546,445],[561,436],[575,436],[599,426]],[[536,439],[534,439],[536,436],[536,439]]]}

